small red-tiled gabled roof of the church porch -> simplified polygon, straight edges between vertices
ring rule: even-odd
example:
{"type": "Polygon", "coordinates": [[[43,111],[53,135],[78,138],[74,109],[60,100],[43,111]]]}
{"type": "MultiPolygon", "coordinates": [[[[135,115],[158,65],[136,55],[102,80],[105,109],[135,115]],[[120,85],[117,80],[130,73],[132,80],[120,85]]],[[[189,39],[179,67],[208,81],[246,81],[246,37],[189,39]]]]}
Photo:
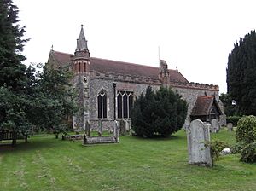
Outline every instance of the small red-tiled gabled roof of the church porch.
{"type": "Polygon", "coordinates": [[[215,96],[199,96],[196,99],[191,116],[209,115],[211,112],[212,104],[215,104],[218,108],[218,112],[222,114],[215,96]]]}

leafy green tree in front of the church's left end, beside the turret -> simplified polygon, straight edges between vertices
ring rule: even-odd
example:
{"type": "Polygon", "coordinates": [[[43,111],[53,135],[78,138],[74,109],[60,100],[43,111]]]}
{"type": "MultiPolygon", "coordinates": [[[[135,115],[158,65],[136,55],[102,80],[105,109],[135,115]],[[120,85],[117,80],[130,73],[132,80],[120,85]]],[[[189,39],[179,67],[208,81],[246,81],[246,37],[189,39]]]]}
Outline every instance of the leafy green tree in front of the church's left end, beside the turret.
{"type": "Polygon", "coordinates": [[[41,129],[65,133],[70,128],[70,118],[78,110],[77,94],[73,88],[73,73],[68,68],[53,68],[39,65],[38,81],[34,87],[30,120],[41,129]]]}

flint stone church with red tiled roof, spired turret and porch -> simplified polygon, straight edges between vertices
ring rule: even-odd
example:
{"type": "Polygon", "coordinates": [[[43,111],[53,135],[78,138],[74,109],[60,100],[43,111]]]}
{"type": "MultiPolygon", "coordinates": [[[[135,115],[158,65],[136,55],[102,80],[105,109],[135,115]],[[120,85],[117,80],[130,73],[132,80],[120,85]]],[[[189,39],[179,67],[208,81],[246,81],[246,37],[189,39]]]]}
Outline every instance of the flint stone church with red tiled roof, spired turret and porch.
{"type": "Polygon", "coordinates": [[[185,124],[191,119],[219,119],[223,114],[218,85],[189,82],[177,69],[168,69],[166,61],[161,60],[160,67],[148,67],[91,57],[83,26],[74,55],[52,49],[48,64],[69,67],[75,73],[73,84],[79,91],[78,101],[83,108],[73,117],[75,130],[83,130],[86,121],[90,121],[92,129],[99,125],[110,129],[115,119],[125,122],[129,129],[133,102],[148,85],[153,90],[158,90],[161,85],[177,90],[189,103],[185,124]]]}

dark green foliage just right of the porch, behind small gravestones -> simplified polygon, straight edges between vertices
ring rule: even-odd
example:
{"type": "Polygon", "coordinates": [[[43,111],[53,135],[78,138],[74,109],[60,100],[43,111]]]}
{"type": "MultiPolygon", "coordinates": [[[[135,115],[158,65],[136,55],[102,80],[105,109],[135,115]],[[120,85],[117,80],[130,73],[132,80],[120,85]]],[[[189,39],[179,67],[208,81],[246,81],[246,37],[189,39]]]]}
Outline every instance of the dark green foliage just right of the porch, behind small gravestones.
{"type": "MultiPolygon", "coordinates": [[[[230,97],[229,94],[224,94],[222,93],[219,96],[219,99],[223,102],[224,105],[224,113],[230,117],[230,116],[236,116],[238,115],[238,107],[236,105],[232,105],[232,98],[230,97]]],[[[230,122],[232,123],[232,122],[230,122]]]]}

